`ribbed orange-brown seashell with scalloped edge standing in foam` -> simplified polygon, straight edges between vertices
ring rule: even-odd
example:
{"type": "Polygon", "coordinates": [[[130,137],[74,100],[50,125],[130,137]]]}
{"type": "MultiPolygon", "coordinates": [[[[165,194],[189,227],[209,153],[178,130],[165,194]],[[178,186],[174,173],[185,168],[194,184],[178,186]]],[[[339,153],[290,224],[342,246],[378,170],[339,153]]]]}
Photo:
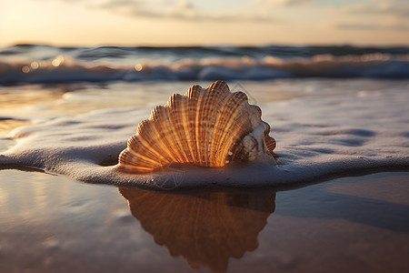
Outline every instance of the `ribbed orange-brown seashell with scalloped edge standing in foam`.
{"type": "Polygon", "coordinates": [[[155,106],[149,119],[139,123],[119,155],[119,168],[146,173],[171,164],[274,164],[275,140],[261,115],[243,92],[230,92],[224,81],[192,86],[184,96],[174,94],[165,106],[155,106]]]}

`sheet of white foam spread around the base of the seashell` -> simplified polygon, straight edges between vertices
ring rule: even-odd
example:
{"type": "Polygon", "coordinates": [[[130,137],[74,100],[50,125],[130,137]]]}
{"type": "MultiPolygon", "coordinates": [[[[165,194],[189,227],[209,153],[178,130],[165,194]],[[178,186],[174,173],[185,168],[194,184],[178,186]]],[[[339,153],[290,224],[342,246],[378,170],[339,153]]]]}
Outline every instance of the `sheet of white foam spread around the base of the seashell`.
{"type": "Polygon", "coordinates": [[[17,145],[2,167],[40,167],[91,183],[130,187],[259,187],[288,185],[339,172],[409,167],[407,90],[356,93],[262,105],[277,141],[277,166],[177,168],[150,175],[118,172],[115,160],[150,108],[96,111],[15,129],[17,145]]]}

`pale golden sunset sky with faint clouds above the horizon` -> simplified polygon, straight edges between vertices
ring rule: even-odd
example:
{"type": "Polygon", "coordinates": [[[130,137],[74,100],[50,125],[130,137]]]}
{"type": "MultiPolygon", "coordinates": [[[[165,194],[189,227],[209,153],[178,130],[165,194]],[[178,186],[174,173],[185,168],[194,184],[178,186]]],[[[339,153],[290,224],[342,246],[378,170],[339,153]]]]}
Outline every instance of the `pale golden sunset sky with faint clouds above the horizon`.
{"type": "Polygon", "coordinates": [[[0,45],[409,45],[408,0],[1,0],[0,45]]]}

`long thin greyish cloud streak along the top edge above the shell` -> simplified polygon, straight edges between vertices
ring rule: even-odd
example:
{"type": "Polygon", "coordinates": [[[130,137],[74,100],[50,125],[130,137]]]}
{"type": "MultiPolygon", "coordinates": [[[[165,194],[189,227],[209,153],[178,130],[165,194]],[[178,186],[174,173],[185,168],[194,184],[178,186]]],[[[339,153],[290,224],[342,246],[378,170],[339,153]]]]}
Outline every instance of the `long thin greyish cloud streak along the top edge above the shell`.
{"type": "MultiPolygon", "coordinates": [[[[294,0],[293,0],[294,1],[294,0]]],[[[247,10],[220,10],[212,13],[203,12],[192,2],[169,0],[108,0],[104,4],[93,5],[117,15],[127,15],[134,18],[160,18],[189,21],[253,21],[271,22],[270,15],[250,13],[247,10]]]]}

